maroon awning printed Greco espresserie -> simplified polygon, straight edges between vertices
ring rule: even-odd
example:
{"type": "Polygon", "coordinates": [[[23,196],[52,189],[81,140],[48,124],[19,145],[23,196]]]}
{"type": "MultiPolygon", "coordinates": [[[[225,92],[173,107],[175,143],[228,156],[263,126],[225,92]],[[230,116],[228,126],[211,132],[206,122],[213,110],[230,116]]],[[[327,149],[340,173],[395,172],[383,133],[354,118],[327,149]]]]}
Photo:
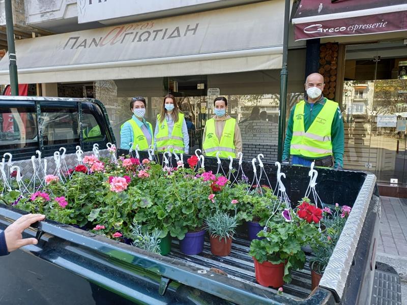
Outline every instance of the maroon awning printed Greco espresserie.
{"type": "Polygon", "coordinates": [[[301,0],[295,40],[407,31],[407,0],[301,0]]]}

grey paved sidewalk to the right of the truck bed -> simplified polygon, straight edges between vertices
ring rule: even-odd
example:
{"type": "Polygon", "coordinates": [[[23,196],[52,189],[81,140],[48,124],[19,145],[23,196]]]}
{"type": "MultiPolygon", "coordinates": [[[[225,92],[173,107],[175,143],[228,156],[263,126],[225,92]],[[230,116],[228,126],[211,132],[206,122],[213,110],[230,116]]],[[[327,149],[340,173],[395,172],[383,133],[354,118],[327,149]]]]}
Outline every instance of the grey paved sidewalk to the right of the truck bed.
{"type": "Polygon", "coordinates": [[[382,219],[376,261],[389,264],[400,276],[401,304],[407,305],[407,200],[381,197],[382,219]]]}

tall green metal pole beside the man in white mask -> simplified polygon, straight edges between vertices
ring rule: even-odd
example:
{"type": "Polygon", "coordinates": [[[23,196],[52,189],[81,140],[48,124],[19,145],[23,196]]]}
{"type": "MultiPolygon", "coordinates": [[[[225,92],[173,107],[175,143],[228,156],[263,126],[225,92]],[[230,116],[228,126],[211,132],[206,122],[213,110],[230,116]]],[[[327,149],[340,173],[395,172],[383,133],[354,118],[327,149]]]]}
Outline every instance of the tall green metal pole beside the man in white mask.
{"type": "Polygon", "coordinates": [[[287,57],[288,57],[288,27],[289,27],[289,3],[290,0],[285,0],[284,8],[284,37],[283,37],[283,63],[280,72],[280,116],[278,119],[278,150],[277,160],[281,162],[284,149],[285,136],[285,106],[287,104],[287,57]]]}

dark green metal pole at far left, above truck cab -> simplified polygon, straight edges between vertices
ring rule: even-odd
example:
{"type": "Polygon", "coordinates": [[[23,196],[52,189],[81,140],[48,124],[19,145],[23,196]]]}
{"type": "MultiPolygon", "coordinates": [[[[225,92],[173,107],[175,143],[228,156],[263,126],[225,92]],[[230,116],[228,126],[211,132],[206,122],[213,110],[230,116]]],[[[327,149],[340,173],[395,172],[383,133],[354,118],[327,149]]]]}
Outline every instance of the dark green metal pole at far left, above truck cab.
{"type": "Polygon", "coordinates": [[[13,7],[11,0],[5,0],[7,45],[9,50],[9,74],[11,95],[18,96],[17,57],[14,45],[13,7]]]}

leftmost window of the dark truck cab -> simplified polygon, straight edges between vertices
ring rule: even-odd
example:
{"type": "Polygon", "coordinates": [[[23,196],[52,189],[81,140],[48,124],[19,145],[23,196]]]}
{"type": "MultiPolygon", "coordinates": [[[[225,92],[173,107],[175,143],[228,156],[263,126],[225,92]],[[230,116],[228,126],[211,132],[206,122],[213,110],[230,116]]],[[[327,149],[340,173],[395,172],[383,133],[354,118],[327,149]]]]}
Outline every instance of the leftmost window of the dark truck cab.
{"type": "Polygon", "coordinates": [[[0,108],[0,149],[37,146],[34,107],[0,108]]]}

